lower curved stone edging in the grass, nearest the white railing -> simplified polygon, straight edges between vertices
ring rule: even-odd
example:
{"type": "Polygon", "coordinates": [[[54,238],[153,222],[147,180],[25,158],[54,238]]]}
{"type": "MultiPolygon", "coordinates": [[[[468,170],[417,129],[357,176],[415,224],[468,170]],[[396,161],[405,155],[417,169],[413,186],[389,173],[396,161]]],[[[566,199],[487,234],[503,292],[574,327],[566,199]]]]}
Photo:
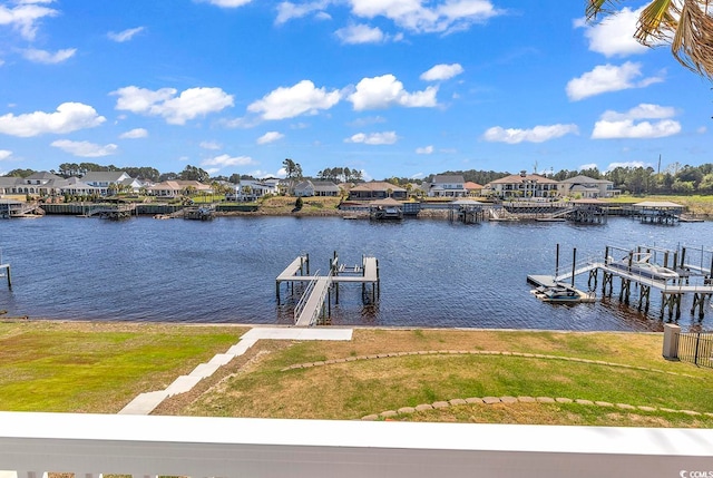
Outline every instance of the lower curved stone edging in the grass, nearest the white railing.
{"type": "Polygon", "coordinates": [[[713,417],[711,412],[697,412],[693,410],[674,410],[670,408],[656,408],[656,407],[646,407],[646,406],[633,406],[628,403],[609,403],[606,401],[592,401],[585,399],[569,399],[569,398],[551,398],[551,397],[470,397],[467,399],[451,399],[448,401],[434,401],[433,403],[421,403],[416,407],[402,407],[398,410],[387,410],[381,413],[367,414],[361,418],[361,420],[373,421],[379,419],[388,419],[392,417],[411,414],[417,411],[427,411],[427,410],[439,410],[455,406],[461,404],[495,404],[495,403],[577,403],[584,406],[593,406],[593,407],[607,407],[607,408],[618,408],[622,410],[639,410],[639,411],[665,411],[668,413],[685,413],[692,417],[696,416],[706,416],[713,417]]]}

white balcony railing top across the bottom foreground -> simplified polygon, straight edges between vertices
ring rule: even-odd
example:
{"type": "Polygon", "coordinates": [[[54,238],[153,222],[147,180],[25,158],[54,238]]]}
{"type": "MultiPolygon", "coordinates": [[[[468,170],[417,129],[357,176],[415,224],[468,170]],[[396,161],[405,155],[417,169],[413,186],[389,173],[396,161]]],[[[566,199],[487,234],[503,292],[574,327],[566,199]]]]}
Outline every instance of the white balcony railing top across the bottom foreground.
{"type": "Polygon", "coordinates": [[[0,412],[0,470],[18,478],[707,478],[712,443],[711,429],[0,412]]]}

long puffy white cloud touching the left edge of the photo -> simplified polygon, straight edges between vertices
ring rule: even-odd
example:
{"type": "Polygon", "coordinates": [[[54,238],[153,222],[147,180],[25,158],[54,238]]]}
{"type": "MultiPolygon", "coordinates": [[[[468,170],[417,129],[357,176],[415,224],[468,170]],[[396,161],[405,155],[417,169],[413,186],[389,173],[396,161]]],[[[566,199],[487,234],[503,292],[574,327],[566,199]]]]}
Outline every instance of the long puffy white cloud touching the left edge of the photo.
{"type": "Polygon", "coordinates": [[[0,134],[23,138],[46,133],[64,134],[94,128],[106,121],[104,116],[81,103],[62,103],[55,113],[35,111],[14,116],[0,116],[0,134]]]}

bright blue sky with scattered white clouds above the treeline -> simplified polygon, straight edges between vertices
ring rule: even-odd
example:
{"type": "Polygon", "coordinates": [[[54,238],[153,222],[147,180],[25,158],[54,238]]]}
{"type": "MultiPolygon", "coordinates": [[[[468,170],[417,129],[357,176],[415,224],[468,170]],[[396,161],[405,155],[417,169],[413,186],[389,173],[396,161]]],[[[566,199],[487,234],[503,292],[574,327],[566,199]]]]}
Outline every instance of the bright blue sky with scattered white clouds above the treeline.
{"type": "Polygon", "coordinates": [[[0,172],[699,165],[711,84],[543,0],[0,0],[0,172]]]}

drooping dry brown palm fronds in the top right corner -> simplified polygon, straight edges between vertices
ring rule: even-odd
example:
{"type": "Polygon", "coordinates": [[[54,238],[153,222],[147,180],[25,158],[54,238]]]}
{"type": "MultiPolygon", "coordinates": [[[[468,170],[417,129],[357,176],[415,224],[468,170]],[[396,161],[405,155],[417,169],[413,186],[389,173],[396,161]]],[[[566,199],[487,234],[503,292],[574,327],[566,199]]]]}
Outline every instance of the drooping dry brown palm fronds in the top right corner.
{"type": "MultiPolygon", "coordinates": [[[[586,16],[594,21],[612,13],[618,0],[587,0],[586,16]]],[[[653,0],[638,18],[634,38],[647,47],[671,43],[684,67],[713,79],[713,19],[710,0],[653,0]]]]}

